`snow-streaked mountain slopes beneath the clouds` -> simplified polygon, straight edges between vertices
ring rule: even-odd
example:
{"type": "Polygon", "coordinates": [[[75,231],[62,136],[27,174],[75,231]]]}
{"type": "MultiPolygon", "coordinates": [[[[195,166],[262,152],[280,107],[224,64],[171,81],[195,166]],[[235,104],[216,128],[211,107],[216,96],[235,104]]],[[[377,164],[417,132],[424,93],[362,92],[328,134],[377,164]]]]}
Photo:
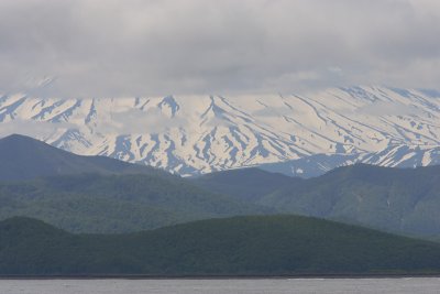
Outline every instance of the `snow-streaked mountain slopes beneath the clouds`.
{"type": "Polygon", "coordinates": [[[261,164],[304,176],[354,162],[418,166],[440,162],[440,92],[352,87],[288,96],[2,95],[0,135],[12,132],[183,175],[261,164]]]}

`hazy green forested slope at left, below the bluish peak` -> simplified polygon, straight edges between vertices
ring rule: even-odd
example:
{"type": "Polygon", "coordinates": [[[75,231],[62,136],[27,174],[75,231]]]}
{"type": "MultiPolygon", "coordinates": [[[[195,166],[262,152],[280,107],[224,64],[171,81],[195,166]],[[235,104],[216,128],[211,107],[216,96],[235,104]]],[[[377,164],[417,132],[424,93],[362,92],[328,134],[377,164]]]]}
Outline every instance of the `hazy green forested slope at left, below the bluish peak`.
{"type": "Polygon", "coordinates": [[[74,232],[139,231],[270,211],[161,174],[81,174],[0,183],[0,219],[34,217],[74,232]]]}

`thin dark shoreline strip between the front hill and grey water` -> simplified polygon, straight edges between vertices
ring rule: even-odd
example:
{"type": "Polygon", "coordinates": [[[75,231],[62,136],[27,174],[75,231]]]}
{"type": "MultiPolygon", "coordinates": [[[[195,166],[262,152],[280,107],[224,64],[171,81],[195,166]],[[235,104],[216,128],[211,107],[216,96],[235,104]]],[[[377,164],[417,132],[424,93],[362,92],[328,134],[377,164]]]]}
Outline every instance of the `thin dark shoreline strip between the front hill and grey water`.
{"type": "Polygon", "coordinates": [[[146,275],[146,274],[76,274],[33,275],[0,274],[4,280],[295,280],[295,279],[409,279],[439,277],[437,274],[292,274],[292,275],[146,275]]]}

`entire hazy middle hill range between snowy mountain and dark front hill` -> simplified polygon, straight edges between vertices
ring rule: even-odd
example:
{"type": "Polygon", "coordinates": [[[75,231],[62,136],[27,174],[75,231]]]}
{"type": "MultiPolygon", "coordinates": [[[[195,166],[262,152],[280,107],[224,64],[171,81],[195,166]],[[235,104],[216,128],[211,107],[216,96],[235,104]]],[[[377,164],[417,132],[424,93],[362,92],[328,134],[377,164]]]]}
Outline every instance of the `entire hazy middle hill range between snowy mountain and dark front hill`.
{"type": "Polygon", "coordinates": [[[22,135],[1,139],[0,151],[0,219],[28,216],[74,232],[127,232],[296,214],[440,240],[440,166],[356,164],[309,179],[251,167],[183,178],[22,135]]]}

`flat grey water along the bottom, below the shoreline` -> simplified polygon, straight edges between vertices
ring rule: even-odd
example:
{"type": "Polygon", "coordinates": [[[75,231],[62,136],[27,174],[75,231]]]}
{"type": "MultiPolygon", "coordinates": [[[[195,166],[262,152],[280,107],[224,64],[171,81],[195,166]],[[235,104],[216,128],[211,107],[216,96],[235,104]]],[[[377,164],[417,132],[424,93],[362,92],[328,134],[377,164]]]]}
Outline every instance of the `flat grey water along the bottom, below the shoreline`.
{"type": "Polygon", "coordinates": [[[0,280],[1,294],[440,293],[440,279],[0,280]]]}

